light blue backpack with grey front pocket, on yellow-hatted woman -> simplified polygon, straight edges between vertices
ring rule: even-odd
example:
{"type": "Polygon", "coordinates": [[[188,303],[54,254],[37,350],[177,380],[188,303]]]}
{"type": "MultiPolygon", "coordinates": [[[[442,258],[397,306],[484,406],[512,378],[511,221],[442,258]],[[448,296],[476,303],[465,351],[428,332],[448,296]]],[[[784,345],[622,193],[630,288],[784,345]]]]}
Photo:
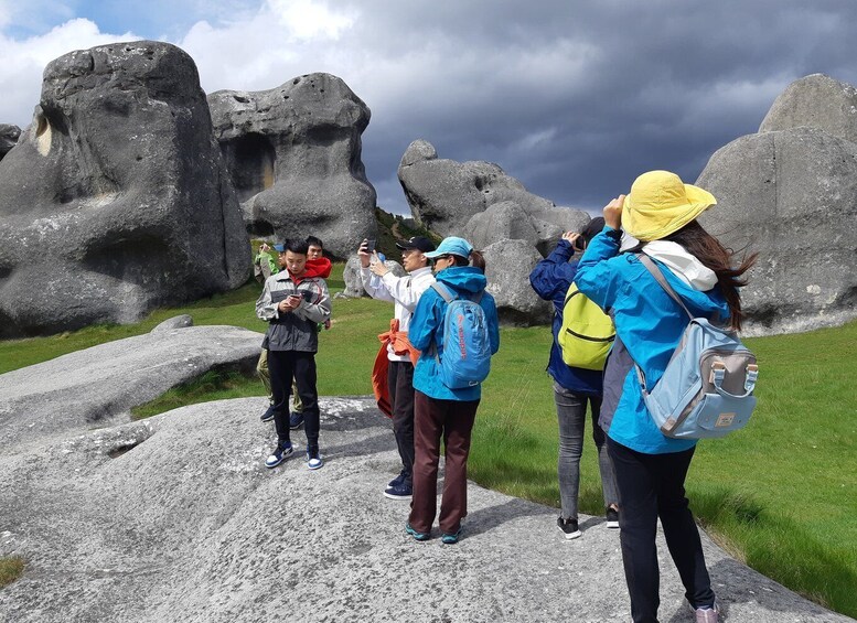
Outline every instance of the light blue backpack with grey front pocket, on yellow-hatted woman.
{"type": "Polygon", "coordinates": [[[756,407],[756,355],[733,332],[705,318],[694,318],[657,265],[643,254],[638,257],[690,318],[664,375],[651,393],[645,389],[643,370],[634,364],[655,426],[674,439],[724,437],[743,428],[756,407]]]}

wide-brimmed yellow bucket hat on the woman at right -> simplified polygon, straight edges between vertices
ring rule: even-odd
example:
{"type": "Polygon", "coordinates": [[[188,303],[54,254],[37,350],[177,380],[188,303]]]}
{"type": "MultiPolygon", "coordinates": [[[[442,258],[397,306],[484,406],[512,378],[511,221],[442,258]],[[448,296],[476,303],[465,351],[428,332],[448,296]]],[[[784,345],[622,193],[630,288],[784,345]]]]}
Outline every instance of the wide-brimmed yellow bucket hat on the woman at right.
{"type": "Polygon", "coordinates": [[[622,208],[622,229],[641,241],[677,232],[717,204],[708,191],[685,184],[669,171],[650,171],[634,180],[622,208]]]}

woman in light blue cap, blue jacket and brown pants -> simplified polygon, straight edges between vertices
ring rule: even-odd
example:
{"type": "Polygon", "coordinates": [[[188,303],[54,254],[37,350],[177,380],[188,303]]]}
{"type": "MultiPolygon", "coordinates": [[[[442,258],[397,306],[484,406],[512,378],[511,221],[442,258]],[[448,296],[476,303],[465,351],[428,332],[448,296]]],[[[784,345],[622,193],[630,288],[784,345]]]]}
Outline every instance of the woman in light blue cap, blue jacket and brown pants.
{"type": "MultiPolygon", "coordinates": [[[[485,260],[463,238],[444,238],[425,254],[435,261],[436,279],[460,298],[476,300],[488,323],[491,353],[500,348],[497,308],[485,292],[485,260]],[[472,264],[472,266],[471,266],[472,264]]],[[[414,493],[406,531],[428,540],[437,513],[440,440],[446,448],[446,475],[440,503],[441,539],[458,543],[461,519],[468,514],[468,454],[482,386],[450,389],[440,379],[438,357],[443,356],[443,314],[447,302],[433,288],[426,290],[410,319],[408,337],[421,351],[414,369],[414,493]]]]}

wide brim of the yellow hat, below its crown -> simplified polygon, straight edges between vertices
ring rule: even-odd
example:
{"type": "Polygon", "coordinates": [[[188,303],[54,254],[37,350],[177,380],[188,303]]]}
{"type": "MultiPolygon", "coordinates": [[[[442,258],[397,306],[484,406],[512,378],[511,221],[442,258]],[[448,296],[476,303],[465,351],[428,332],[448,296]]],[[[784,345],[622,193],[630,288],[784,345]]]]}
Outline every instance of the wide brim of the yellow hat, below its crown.
{"type": "Polygon", "coordinates": [[[684,187],[687,203],[663,210],[644,211],[634,205],[632,195],[628,195],[622,210],[622,229],[643,243],[660,240],[717,205],[717,200],[708,191],[693,184],[684,184],[684,187]],[[667,217],[666,222],[664,217],[667,217]]]}

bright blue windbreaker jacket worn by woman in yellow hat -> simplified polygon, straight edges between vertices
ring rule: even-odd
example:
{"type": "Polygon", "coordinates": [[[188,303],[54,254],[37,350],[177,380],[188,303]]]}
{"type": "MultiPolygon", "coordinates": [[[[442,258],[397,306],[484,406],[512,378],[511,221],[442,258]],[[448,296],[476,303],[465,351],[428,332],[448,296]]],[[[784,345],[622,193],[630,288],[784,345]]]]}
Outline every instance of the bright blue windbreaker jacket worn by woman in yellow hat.
{"type": "MultiPolygon", "coordinates": [[[[681,452],[696,441],[671,439],[649,415],[633,362],[643,368],[651,391],[664,374],[689,319],[633,254],[619,254],[619,238],[610,227],[589,243],[575,278],[578,288],[613,316],[617,341],[604,369],[604,397],[599,422],[608,436],[638,452],[681,452]],[[612,234],[612,235],[611,235],[612,234]]],[[[669,284],[696,316],[725,322],[729,305],[715,287],[694,290],[658,262],[669,284]]]]}

